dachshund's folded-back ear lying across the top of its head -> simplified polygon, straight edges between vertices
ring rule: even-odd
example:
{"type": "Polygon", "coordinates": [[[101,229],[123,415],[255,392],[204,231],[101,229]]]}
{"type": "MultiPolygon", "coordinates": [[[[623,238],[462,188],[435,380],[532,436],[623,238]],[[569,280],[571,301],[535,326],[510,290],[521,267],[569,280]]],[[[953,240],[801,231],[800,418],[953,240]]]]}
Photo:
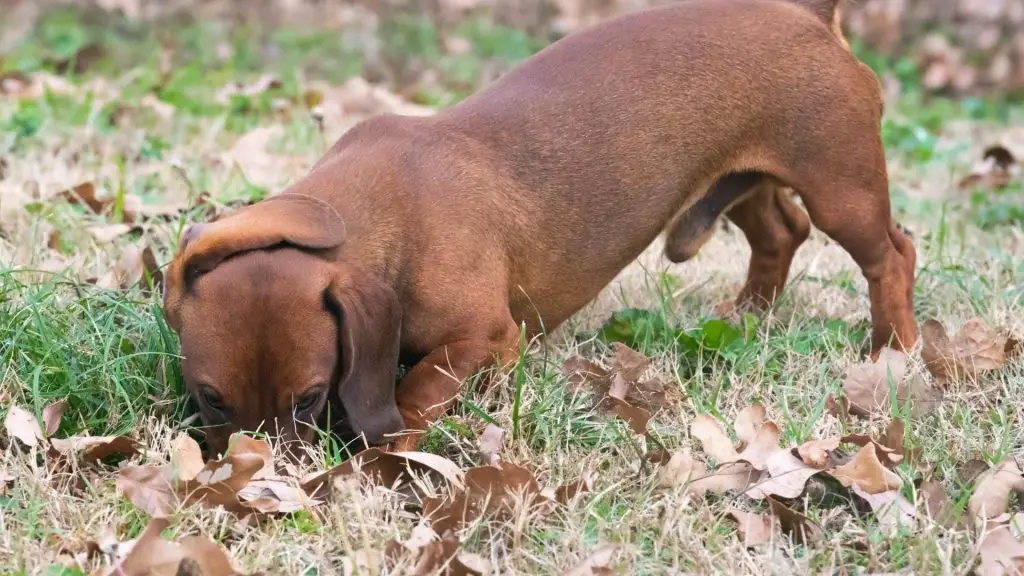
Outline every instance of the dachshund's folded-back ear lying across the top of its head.
{"type": "Polygon", "coordinates": [[[164,281],[164,314],[180,330],[179,307],[189,285],[203,273],[240,252],[291,244],[321,250],[340,246],[345,224],[333,206],[310,196],[281,194],[215,222],[191,224],[164,281]]]}

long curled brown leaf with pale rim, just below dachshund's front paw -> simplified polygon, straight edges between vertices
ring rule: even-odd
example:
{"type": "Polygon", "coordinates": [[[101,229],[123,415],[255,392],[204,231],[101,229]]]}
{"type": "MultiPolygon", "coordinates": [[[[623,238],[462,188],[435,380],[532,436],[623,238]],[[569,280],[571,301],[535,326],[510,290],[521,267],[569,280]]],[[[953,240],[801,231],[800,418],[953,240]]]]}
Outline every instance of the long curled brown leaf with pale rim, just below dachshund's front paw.
{"type": "Polygon", "coordinates": [[[388,488],[412,481],[413,472],[438,474],[457,490],[465,486],[465,472],[447,458],[426,452],[385,452],[379,448],[369,448],[327,471],[309,475],[300,485],[310,496],[321,497],[334,478],[356,472],[388,488]]]}

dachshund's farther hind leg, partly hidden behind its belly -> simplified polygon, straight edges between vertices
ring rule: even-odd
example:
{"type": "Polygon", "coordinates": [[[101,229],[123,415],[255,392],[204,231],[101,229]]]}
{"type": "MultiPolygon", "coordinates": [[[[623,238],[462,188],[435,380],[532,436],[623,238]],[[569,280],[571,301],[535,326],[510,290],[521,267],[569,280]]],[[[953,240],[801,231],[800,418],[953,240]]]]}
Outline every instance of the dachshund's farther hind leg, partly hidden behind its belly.
{"type": "Polygon", "coordinates": [[[726,214],[751,245],[746,283],[736,306],[764,308],[785,287],[790,264],[811,233],[807,214],[791,198],[791,191],[765,177],[755,192],[726,214]]]}

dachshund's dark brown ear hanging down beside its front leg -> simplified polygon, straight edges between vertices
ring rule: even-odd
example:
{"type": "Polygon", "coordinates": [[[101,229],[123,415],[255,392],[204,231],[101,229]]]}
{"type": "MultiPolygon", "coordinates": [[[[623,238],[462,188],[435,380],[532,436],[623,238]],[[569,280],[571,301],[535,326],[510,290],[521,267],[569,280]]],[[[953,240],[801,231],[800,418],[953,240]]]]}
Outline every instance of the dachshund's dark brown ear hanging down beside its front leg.
{"type": "Polygon", "coordinates": [[[401,307],[394,290],[371,275],[338,278],[328,288],[338,306],[342,372],[336,394],[356,434],[370,445],[406,424],[394,400],[401,307]]]}

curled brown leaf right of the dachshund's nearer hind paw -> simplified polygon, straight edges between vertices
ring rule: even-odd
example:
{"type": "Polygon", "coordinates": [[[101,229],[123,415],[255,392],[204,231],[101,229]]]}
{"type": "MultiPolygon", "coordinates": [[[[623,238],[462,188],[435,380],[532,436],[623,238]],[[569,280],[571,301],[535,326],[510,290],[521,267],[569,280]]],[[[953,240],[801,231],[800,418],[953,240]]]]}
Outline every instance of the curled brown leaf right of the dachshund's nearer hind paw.
{"type": "Polygon", "coordinates": [[[967,321],[950,338],[936,320],[921,326],[924,346],[921,357],[928,371],[943,386],[962,379],[976,380],[980,374],[998,370],[1007,362],[1008,338],[985,325],[980,318],[967,321]]]}

